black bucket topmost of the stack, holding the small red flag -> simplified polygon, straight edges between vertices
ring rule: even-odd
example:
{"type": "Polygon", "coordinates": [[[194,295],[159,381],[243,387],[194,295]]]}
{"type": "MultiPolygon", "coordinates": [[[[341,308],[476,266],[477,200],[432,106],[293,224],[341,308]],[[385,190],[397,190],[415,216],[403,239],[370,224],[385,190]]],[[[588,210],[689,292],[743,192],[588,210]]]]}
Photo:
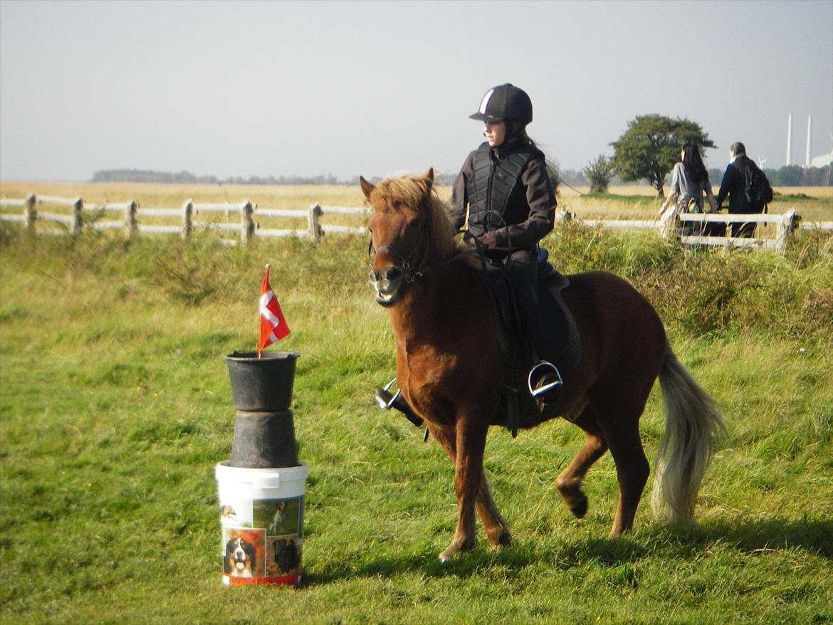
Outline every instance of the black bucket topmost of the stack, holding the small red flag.
{"type": "Polygon", "coordinates": [[[232,352],[226,356],[234,408],[247,413],[279,413],[292,403],[296,352],[232,352]]]}

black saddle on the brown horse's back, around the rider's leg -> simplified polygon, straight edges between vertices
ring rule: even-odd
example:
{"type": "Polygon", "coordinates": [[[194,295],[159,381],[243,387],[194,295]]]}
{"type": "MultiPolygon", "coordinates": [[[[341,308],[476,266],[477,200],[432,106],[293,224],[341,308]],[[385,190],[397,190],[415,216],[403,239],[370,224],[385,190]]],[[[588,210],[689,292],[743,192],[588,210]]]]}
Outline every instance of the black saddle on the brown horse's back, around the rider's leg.
{"type": "MultiPolygon", "coordinates": [[[[570,308],[567,308],[561,297],[562,292],[570,286],[570,278],[558,273],[548,262],[548,256],[546,249],[541,249],[538,253],[538,302],[546,325],[553,333],[551,344],[554,351],[539,353],[538,356],[553,363],[563,375],[576,368],[581,360],[581,335],[570,308]]],[[[497,341],[501,358],[508,370],[506,382],[501,390],[502,409],[497,411],[498,415],[506,414],[506,423],[502,418],[498,418],[499,423],[494,424],[506,425],[512,437],[516,437],[522,415],[530,408],[530,403],[535,401],[526,385],[518,383],[525,379],[525,373],[535,364],[532,362],[533,351],[521,323],[512,284],[502,273],[486,275],[489,293],[495,304],[497,341]],[[491,278],[495,274],[497,277],[491,278]]],[[[545,417],[556,416],[554,406],[539,404],[539,408],[545,417]]]]}

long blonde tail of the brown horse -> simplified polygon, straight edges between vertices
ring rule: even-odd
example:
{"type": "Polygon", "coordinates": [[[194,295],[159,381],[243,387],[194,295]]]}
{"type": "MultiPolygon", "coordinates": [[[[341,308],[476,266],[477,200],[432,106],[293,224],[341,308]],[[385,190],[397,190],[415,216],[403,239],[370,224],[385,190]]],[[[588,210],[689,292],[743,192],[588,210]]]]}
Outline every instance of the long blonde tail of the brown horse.
{"type": "Polygon", "coordinates": [[[666,522],[691,522],[701,479],[726,433],[716,401],[666,348],[660,370],[666,432],[657,451],[651,510],[666,522]]]}

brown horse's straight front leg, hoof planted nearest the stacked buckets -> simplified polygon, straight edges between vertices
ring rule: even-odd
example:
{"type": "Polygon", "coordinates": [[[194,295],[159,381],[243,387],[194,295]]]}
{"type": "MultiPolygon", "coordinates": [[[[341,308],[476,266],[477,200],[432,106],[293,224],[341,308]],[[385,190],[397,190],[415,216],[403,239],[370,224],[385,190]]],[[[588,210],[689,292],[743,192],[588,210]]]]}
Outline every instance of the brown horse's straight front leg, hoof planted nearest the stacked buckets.
{"type": "Polygon", "coordinates": [[[440,554],[440,562],[451,559],[458,551],[474,547],[475,502],[481,492],[487,430],[488,424],[472,423],[468,419],[460,419],[456,423],[454,491],[457,496],[457,527],[451,544],[440,554]]]}

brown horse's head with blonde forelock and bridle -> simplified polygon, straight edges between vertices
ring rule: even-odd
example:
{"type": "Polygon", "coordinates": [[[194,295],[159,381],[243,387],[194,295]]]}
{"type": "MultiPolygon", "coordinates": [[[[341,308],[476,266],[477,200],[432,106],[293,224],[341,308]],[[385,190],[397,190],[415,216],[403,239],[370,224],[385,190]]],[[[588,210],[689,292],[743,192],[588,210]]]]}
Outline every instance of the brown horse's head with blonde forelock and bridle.
{"type": "Polygon", "coordinates": [[[432,193],[433,169],[421,176],[386,178],[376,186],[364,178],[359,182],[373,209],[367,223],[370,283],[376,301],[392,306],[402,297],[405,284],[419,278],[428,263],[444,254],[445,246],[451,249],[451,227],[443,203],[432,193]]]}

